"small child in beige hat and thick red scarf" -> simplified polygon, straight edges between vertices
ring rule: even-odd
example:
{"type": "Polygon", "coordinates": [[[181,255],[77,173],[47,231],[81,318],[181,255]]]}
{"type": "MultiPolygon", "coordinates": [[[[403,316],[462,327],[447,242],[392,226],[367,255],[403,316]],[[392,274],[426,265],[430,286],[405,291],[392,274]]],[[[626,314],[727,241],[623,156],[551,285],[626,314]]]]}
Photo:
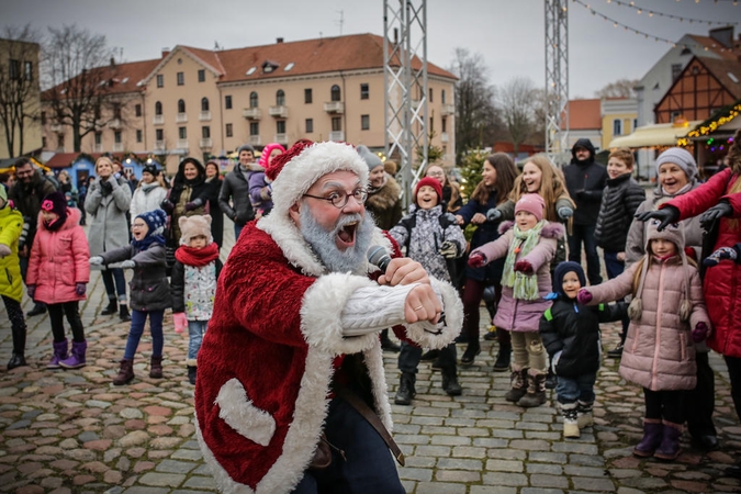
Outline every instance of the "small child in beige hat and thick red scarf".
{"type": "Polygon", "coordinates": [[[211,237],[211,216],[180,217],[180,247],[170,278],[176,333],[188,327],[188,380],[195,384],[197,357],[214,307],[222,270],[218,246],[211,237]]]}

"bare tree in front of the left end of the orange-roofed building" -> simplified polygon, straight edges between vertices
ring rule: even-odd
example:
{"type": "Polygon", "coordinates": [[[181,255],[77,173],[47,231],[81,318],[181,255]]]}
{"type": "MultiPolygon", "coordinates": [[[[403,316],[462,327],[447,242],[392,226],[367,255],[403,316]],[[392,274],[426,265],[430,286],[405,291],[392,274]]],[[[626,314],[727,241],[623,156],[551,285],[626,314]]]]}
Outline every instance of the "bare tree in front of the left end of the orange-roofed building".
{"type": "Polygon", "coordinates": [[[115,74],[113,49],[104,35],[76,25],[49,27],[49,33],[45,58],[49,89],[44,101],[54,122],[72,130],[74,150],[80,151],[82,137],[106,123],[101,115],[109,112],[102,109],[116,104],[108,98],[115,74]]]}

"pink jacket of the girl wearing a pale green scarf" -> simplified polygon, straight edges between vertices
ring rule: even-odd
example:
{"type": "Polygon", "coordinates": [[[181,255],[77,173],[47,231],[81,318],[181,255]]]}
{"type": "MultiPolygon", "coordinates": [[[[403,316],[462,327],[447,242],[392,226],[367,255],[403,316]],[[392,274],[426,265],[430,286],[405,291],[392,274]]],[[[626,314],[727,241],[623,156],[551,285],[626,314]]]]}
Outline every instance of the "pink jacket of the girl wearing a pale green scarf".
{"type": "MultiPolygon", "coordinates": [[[[505,222],[499,226],[502,236],[490,242],[474,252],[483,254],[487,261],[505,258],[515,236],[514,223],[505,222]]],[[[546,295],[551,291],[551,259],[555,255],[558,238],[565,229],[559,223],[549,223],[540,231],[540,240],[527,256],[515,257],[515,262],[526,260],[530,262],[538,277],[538,294],[536,300],[517,300],[513,296],[512,287],[502,287],[502,300],[494,316],[494,325],[513,332],[537,333],[540,327],[540,316],[550,307],[551,303],[546,295]]]]}

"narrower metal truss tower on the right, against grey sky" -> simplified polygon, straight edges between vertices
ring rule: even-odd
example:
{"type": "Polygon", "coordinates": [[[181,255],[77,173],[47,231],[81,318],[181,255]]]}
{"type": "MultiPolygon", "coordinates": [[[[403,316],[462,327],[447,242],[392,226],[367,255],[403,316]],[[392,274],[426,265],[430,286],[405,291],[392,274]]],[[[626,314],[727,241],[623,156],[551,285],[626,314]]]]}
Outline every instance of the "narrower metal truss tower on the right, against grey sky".
{"type": "Polygon", "coordinates": [[[568,0],[546,0],[546,154],[563,165],[569,157],[568,0]]]}

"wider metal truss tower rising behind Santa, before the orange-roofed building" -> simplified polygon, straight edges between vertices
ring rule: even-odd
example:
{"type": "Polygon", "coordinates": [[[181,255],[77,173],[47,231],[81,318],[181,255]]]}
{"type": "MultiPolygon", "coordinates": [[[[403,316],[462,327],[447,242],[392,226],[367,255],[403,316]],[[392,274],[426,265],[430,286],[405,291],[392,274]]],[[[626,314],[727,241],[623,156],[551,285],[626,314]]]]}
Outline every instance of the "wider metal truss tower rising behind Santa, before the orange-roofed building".
{"type": "Polygon", "coordinates": [[[384,0],[385,155],[397,159],[404,206],[427,168],[427,0],[384,0]]]}

